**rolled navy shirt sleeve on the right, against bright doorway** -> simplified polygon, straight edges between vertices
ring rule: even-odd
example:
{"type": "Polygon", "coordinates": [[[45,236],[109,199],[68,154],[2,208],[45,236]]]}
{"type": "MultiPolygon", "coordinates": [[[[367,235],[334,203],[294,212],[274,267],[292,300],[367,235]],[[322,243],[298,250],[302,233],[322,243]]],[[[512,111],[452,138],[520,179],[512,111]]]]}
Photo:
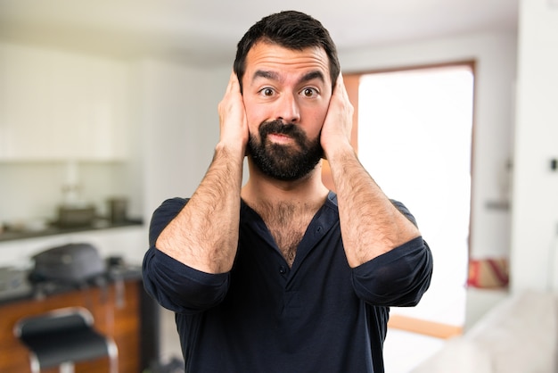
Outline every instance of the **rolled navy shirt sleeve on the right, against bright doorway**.
{"type": "MultiPolygon", "coordinates": [[[[392,203],[416,225],[403,203],[392,203]]],[[[353,286],[360,298],[373,305],[414,306],[431,284],[432,269],[431,249],[419,236],[353,269],[353,286]]]]}

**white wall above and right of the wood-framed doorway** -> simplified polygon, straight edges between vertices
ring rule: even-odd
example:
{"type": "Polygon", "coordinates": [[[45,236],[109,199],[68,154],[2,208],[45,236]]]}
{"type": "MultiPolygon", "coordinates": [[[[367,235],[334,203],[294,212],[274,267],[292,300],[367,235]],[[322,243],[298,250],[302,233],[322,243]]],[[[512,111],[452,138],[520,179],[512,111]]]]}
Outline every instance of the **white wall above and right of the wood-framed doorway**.
{"type": "Polygon", "coordinates": [[[471,255],[475,258],[509,253],[510,213],[489,209],[487,203],[500,199],[498,175],[512,153],[515,54],[514,33],[448,37],[340,52],[346,72],[476,62],[471,227],[471,255]]]}

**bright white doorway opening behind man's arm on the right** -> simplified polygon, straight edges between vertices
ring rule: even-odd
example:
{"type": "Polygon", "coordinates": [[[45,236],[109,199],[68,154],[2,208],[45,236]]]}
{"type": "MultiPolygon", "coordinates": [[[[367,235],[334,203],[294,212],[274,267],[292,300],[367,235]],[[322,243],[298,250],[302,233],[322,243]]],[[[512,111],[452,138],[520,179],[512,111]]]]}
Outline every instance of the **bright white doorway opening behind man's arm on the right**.
{"type": "Polygon", "coordinates": [[[465,317],[474,65],[357,78],[359,159],[386,195],[414,214],[434,256],[431,288],[421,303],[393,308],[391,319],[432,321],[448,337],[461,330],[465,317]]]}

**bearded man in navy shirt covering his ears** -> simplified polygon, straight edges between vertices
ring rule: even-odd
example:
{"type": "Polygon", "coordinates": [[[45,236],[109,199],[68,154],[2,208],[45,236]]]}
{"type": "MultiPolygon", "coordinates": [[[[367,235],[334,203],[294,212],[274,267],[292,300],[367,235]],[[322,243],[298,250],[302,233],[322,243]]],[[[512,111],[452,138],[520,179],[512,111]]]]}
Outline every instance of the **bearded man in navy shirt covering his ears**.
{"type": "Polygon", "coordinates": [[[419,302],[431,252],[357,160],[327,30],[300,12],[256,23],[218,112],[207,174],[154,212],[144,259],[147,291],[176,312],[185,370],[383,372],[389,307],[419,302]]]}

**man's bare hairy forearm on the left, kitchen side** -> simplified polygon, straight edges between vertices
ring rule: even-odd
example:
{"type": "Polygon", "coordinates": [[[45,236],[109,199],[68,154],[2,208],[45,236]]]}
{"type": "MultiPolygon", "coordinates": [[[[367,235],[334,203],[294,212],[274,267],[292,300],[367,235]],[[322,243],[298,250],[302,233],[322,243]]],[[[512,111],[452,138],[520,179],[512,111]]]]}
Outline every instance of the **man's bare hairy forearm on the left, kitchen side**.
{"type": "Polygon", "coordinates": [[[217,145],[200,186],[158,237],[160,251],[207,273],[232,268],[238,245],[242,159],[239,151],[217,145]]]}

